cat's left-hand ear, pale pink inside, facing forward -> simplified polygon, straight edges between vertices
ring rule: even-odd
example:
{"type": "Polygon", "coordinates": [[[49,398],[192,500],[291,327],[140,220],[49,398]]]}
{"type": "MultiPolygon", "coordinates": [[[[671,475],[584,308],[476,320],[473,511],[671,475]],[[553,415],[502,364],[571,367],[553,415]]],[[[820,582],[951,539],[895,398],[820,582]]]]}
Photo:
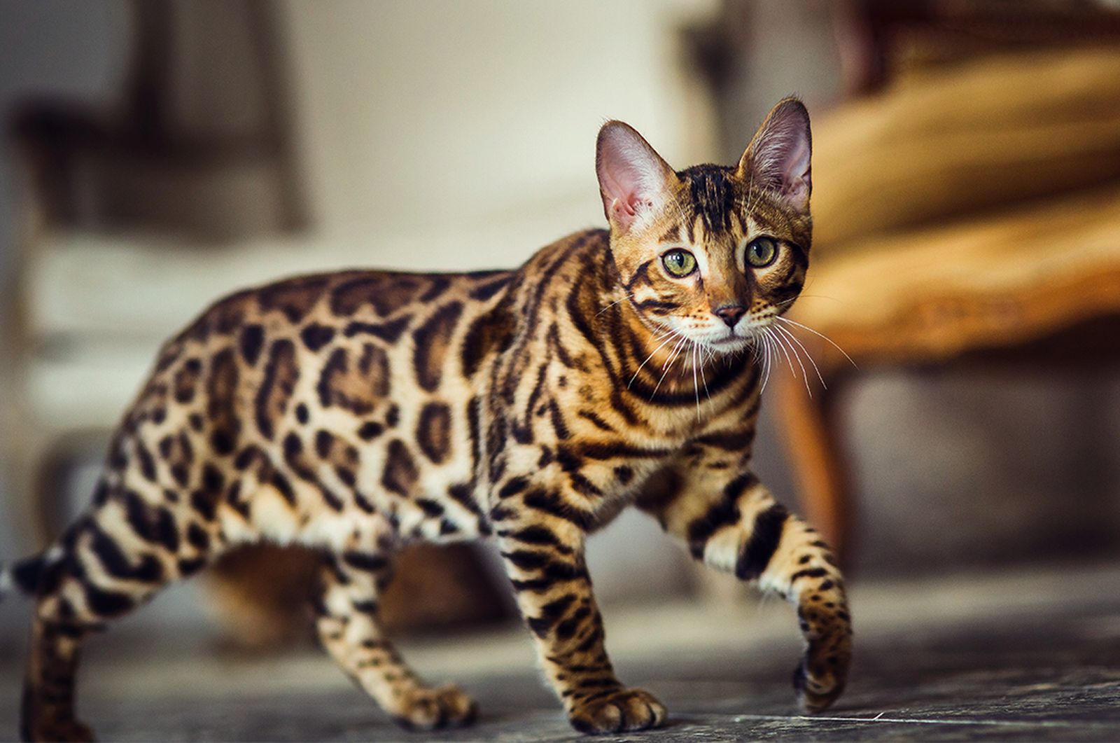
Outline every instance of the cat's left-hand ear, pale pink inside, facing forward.
{"type": "Polygon", "coordinates": [[[619,232],[663,206],[678,180],[642,134],[622,121],[608,121],[599,130],[595,170],[603,211],[619,232]]]}

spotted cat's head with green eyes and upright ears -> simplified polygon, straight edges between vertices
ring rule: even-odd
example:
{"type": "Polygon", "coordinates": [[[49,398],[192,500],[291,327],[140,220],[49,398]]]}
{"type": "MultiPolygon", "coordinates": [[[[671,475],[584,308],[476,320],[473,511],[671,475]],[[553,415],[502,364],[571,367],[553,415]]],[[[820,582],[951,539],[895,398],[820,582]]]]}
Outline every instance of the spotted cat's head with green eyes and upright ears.
{"type": "Polygon", "coordinates": [[[734,167],[674,171],[632,127],[604,124],[596,169],[610,250],[647,325],[736,351],[793,305],[809,267],[811,154],[809,113],[792,97],[734,167]]]}

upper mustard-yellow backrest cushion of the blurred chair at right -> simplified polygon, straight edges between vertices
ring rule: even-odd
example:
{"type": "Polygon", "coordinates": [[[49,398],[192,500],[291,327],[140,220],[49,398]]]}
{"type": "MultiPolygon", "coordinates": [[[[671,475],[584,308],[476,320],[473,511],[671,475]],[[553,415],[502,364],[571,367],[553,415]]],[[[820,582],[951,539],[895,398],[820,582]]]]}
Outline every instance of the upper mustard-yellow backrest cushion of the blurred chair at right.
{"type": "Polygon", "coordinates": [[[936,67],[814,121],[814,245],[1120,178],[1120,48],[936,67]]]}

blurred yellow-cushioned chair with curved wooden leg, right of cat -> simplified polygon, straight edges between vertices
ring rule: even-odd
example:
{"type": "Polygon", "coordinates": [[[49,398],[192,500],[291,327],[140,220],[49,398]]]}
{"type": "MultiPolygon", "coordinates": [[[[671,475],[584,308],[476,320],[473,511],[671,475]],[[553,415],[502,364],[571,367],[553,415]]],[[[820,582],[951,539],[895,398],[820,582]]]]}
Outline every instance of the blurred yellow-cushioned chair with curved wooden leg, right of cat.
{"type": "Polygon", "coordinates": [[[828,389],[806,362],[812,397],[780,379],[778,417],[806,516],[843,551],[859,374],[1120,357],[1120,46],[973,52],[911,55],[814,120],[813,266],[790,318],[820,335],[788,329],[828,389]]]}

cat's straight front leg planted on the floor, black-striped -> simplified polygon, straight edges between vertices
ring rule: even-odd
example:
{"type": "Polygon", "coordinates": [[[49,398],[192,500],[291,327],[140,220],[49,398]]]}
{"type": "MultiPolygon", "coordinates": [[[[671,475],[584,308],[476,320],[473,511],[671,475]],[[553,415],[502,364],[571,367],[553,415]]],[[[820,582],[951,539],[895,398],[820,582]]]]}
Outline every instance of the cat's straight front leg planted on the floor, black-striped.
{"type": "Polygon", "coordinates": [[[587,499],[563,487],[510,477],[491,509],[498,547],[541,667],[584,733],[656,727],[665,707],[615,677],[604,647],[603,616],[584,561],[587,499]]]}

